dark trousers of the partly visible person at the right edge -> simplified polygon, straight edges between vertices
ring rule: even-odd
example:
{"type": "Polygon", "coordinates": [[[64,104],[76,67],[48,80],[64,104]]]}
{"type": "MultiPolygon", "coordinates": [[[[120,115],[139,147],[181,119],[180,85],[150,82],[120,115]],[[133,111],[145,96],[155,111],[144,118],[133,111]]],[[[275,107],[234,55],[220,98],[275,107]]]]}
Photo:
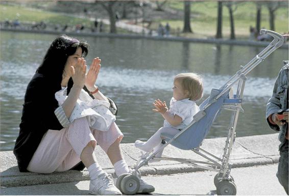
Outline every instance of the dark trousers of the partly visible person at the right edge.
{"type": "Polygon", "coordinates": [[[288,195],[288,139],[285,139],[285,143],[280,148],[280,159],[276,176],[288,195]]]}

